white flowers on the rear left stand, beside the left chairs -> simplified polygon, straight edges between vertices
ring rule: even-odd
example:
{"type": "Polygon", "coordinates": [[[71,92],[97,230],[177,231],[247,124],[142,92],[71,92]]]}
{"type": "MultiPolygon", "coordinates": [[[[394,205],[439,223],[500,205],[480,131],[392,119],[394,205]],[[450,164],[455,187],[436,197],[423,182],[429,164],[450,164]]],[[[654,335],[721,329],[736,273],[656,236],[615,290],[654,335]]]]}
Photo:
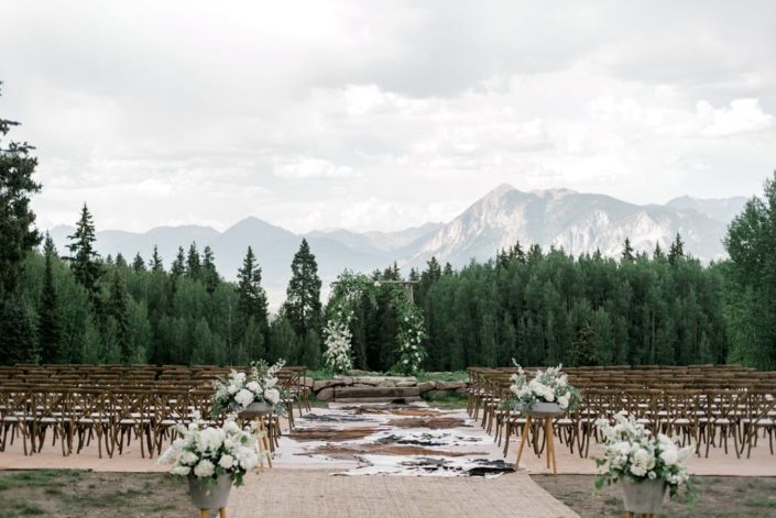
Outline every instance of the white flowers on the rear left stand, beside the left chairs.
{"type": "Polygon", "coordinates": [[[232,371],[226,378],[212,382],[216,389],[212,412],[218,416],[226,412],[239,412],[252,403],[267,403],[276,414],[283,412],[283,397],[285,396],[277,386],[277,371],[283,368],[285,362],[281,360],[272,366],[265,362],[251,364],[250,373],[232,371]]]}

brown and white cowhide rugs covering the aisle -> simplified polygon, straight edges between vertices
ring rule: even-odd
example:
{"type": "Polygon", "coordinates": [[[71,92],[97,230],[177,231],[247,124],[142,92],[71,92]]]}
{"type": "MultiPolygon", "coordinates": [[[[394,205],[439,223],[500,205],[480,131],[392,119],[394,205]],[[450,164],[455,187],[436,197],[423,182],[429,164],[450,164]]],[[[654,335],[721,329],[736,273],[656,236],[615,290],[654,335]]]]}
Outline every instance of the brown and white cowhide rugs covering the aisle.
{"type": "Polygon", "coordinates": [[[514,472],[463,410],[425,404],[338,405],[296,418],[281,465],[339,475],[499,476],[514,472]],[[295,456],[296,459],[289,459],[295,456]]]}

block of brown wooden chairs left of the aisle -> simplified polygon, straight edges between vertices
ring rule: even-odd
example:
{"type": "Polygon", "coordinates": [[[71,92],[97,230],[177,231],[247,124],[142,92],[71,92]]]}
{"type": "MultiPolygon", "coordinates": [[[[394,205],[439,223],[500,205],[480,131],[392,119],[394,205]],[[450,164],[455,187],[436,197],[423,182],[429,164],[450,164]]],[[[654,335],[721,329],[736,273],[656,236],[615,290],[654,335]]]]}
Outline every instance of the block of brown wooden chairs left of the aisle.
{"type": "MultiPolygon", "coordinates": [[[[66,367],[15,366],[0,373],[0,452],[18,440],[25,455],[35,454],[51,439],[52,447],[58,441],[63,455],[69,455],[80,453],[95,441],[102,458],[103,452],[108,456],[117,451],[121,454],[136,440],[141,455],[153,456],[161,452],[163,443],[175,439],[175,425],[188,425],[195,412],[210,415],[212,379],[230,371],[176,367],[183,375],[174,379],[164,378],[159,371],[153,377],[138,375],[123,366],[84,366],[70,371],[87,372],[89,376],[63,376],[66,367]],[[50,375],[40,375],[42,371],[50,375]],[[106,375],[111,371],[124,375],[106,375]]],[[[170,370],[162,371],[165,372],[170,370]]],[[[306,374],[304,366],[284,367],[277,373],[278,386],[287,395],[282,403],[292,429],[294,405],[299,415],[310,409],[312,389],[306,374]]],[[[280,425],[277,416],[265,417],[272,450],[281,436],[280,425]]]]}

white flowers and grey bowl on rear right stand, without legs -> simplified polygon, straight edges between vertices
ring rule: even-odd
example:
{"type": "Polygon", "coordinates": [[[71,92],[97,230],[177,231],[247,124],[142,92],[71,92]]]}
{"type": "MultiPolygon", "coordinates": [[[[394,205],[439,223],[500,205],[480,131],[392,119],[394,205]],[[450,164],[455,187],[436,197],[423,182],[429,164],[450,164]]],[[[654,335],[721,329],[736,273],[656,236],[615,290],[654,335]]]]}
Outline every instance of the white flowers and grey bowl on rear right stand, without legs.
{"type": "Polygon", "coordinates": [[[536,417],[553,417],[573,410],[581,396],[569,385],[561,367],[536,371],[534,378],[528,381],[523,367],[517,365],[517,374],[511,377],[512,396],[506,400],[506,407],[536,417]]]}

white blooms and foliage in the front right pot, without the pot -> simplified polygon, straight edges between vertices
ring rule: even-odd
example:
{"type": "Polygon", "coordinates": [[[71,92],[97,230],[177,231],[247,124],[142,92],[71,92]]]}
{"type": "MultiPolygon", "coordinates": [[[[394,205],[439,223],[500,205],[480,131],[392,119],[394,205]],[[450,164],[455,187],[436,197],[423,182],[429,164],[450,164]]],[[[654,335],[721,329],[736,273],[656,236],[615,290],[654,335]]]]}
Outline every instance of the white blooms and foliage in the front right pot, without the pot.
{"type": "Polygon", "coordinates": [[[604,437],[604,456],[595,459],[595,464],[603,469],[595,481],[597,488],[623,477],[635,482],[662,480],[668,485],[671,497],[684,485],[688,499],[692,499],[695,492],[685,462],[695,451],[693,445],[679,448],[674,439],[663,433],[652,437],[644,425],[625,411],[614,416],[614,426],[606,419],[599,419],[595,426],[604,437]]]}

